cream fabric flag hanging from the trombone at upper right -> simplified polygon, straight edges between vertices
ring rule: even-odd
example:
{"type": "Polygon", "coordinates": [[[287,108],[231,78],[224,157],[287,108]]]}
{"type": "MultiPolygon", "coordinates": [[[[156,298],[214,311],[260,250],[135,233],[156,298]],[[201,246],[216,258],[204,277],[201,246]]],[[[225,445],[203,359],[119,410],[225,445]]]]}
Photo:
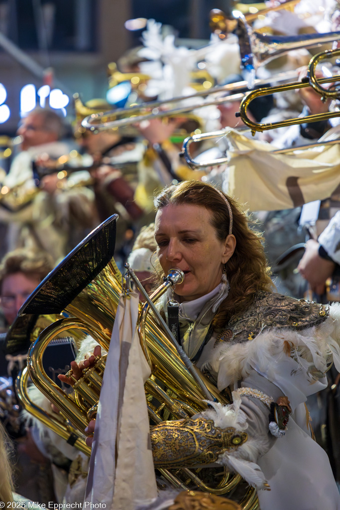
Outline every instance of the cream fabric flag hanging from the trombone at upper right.
{"type": "Polygon", "coordinates": [[[223,190],[250,211],[276,211],[339,194],[340,143],[273,154],[270,143],[226,135],[228,166],[223,190]]]}

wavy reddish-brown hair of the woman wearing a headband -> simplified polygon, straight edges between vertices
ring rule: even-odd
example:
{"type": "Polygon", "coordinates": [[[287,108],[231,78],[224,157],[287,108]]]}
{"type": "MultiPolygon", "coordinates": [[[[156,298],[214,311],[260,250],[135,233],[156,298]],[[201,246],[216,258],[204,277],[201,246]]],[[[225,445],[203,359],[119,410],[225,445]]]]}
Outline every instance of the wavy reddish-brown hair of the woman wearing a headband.
{"type": "Polygon", "coordinates": [[[271,291],[274,288],[261,234],[250,228],[254,222],[240,210],[236,201],[224,193],[220,194],[210,184],[184,181],[165,188],[154,200],[156,210],[171,203],[191,204],[211,211],[211,223],[220,241],[224,241],[229,234],[230,218],[226,200],[232,212],[232,234],[236,237],[236,248],[225,265],[230,291],[215,316],[215,328],[224,327],[232,315],[246,310],[258,291],[271,291]]]}

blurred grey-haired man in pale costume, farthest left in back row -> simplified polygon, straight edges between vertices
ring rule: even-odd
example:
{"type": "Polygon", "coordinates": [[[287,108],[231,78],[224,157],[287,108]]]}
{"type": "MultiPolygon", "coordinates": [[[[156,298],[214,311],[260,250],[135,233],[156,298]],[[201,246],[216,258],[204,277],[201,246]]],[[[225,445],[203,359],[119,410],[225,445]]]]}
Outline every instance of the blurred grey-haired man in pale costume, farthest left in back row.
{"type": "MultiPolygon", "coordinates": [[[[75,244],[74,230],[94,226],[93,192],[84,186],[69,186],[57,173],[41,180],[34,164],[41,158],[58,158],[68,154],[70,145],[62,141],[66,125],[56,112],[36,109],[22,120],[18,135],[21,152],[14,158],[3,186],[16,190],[17,210],[0,209],[0,221],[9,223],[8,250],[20,246],[44,249],[55,262],[61,260],[75,244]],[[30,199],[26,203],[25,197],[30,199]]],[[[89,175],[88,175],[89,177],[89,175]]],[[[73,184],[74,184],[74,177],[73,184]]]]}

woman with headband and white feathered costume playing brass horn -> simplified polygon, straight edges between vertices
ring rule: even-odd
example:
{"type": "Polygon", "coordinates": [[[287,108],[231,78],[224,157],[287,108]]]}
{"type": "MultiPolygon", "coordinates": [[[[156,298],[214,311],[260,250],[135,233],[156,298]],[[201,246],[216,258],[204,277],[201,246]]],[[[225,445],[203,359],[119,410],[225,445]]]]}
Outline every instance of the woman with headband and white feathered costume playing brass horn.
{"type": "Polygon", "coordinates": [[[155,206],[162,270],[185,273],[160,307],[167,315],[168,301],[179,302],[181,346],[219,391],[232,394],[229,405],[210,402],[190,419],[152,426],[155,467],[225,465],[271,489],[258,490],[261,510],[340,508],[304,404],[326,387],[332,357],[340,369],[336,305],[275,293],[260,237],[236,202],[212,186],[170,186],[155,206]]]}

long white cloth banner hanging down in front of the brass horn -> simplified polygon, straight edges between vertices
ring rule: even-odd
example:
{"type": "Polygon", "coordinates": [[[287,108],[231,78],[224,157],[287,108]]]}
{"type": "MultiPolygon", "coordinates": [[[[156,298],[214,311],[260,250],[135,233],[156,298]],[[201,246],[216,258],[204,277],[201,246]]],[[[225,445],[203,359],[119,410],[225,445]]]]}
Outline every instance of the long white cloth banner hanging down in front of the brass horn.
{"type": "Polygon", "coordinates": [[[138,302],[136,293],[120,296],[100,392],[85,501],[107,510],[135,510],[157,497],[138,302]]]}

